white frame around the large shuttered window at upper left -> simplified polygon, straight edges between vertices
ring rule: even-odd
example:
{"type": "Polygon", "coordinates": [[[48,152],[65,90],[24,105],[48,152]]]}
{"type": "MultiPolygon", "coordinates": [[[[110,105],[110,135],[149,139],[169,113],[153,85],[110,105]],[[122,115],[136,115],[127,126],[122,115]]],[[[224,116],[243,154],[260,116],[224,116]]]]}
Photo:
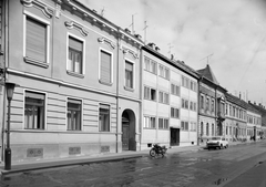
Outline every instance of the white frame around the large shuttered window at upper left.
{"type": "Polygon", "coordinates": [[[29,11],[25,11],[25,10],[23,11],[23,59],[24,59],[24,62],[33,64],[33,65],[42,66],[45,69],[49,67],[49,63],[50,63],[50,24],[51,23],[49,21],[47,21],[45,19],[40,18],[29,11]],[[47,50],[47,56],[45,56],[47,62],[44,62],[44,63],[25,56],[27,17],[30,17],[31,19],[34,19],[47,25],[47,49],[45,49],[47,50]]]}

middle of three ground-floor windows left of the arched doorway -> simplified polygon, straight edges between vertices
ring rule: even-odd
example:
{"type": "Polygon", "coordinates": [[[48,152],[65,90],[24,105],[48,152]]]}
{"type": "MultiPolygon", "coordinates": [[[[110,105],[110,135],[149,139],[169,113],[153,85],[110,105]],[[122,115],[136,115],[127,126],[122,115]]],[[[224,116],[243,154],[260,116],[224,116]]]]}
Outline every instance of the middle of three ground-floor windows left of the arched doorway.
{"type": "Polygon", "coordinates": [[[68,129],[81,131],[81,101],[68,100],[68,129]]]}

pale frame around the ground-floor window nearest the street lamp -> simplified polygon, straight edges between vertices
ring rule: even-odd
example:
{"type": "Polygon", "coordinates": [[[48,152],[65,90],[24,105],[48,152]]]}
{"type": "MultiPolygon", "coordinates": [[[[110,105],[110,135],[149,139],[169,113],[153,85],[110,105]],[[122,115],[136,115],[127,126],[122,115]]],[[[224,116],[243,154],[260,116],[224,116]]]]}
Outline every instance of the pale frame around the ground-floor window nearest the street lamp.
{"type": "Polygon", "coordinates": [[[31,90],[31,89],[23,89],[23,114],[22,114],[22,126],[21,129],[24,131],[45,131],[47,129],[47,112],[48,112],[48,93],[47,92],[42,92],[42,91],[37,91],[37,90],[31,90]],[[25,124],[24,124],[24,105],[25,105],[25,92],[34,92],[34,93],[39,93],[39,94],[44,94],[44,128],[43,129],[31,129],[31,128],[25,128],[25,124]]]}

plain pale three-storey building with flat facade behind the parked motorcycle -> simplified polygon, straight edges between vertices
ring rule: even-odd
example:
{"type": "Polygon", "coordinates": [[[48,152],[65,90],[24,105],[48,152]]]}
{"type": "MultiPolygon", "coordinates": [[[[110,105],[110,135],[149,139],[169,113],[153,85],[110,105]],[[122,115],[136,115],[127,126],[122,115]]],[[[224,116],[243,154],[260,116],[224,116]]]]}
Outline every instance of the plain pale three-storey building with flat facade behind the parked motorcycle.
{"type": "Polygon", "coordinates": [[[143,149],[153,143],[196,144],[197,80],[195,71],[162,55],[154,43],[143,46],[143,149]]]}

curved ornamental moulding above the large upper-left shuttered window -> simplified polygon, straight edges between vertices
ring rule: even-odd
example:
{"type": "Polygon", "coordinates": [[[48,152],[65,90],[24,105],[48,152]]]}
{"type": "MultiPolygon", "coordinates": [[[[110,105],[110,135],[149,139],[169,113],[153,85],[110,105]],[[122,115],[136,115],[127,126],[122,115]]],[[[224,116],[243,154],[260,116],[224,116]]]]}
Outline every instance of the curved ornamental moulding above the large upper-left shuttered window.
{"type": "Polygon", "coordinates": [[[35,7],[40,9],[47,18],[52,18],[53,15],[53,10],[48,8],[44,3],[42,3],[39,0],[20,0],[20,1],[24,7],[28,7],[28,8],[35,7]]]}

